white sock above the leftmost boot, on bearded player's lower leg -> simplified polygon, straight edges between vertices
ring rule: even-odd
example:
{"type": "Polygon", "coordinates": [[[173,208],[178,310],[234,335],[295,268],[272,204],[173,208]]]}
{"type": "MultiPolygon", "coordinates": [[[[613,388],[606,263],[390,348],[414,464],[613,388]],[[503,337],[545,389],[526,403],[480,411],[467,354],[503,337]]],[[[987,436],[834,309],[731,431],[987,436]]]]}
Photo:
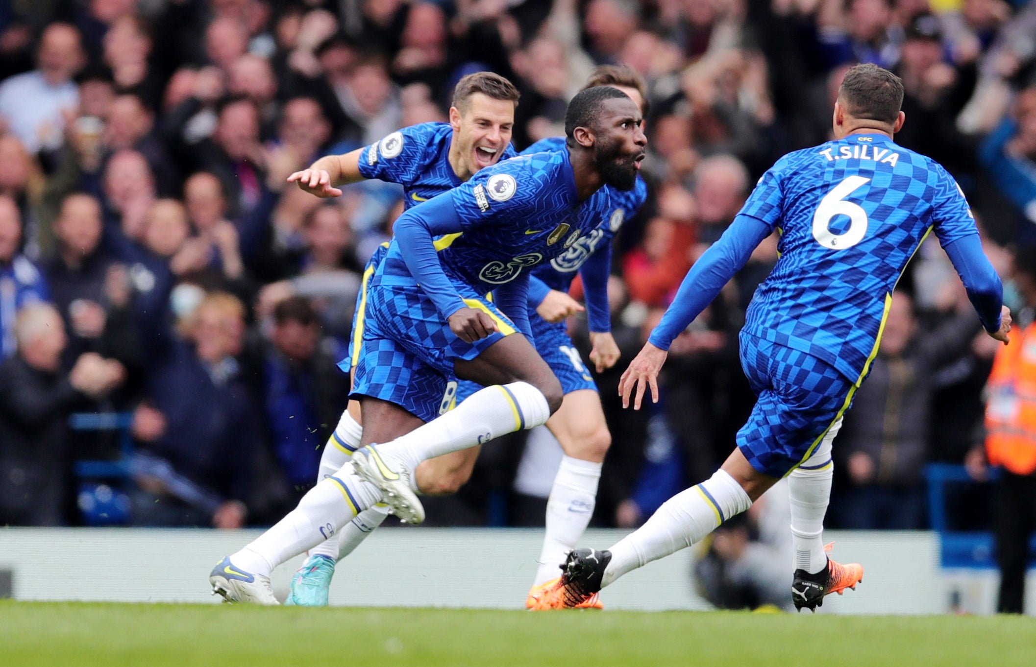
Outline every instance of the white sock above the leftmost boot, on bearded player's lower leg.
{"type": "Polygon", "coordinates": [[[275,526],[230,556],[238,568],[269,576],[279,564],[336,534],[359,512],[381,500],[381,491],[345,466],[298,501],[275,526]]]}

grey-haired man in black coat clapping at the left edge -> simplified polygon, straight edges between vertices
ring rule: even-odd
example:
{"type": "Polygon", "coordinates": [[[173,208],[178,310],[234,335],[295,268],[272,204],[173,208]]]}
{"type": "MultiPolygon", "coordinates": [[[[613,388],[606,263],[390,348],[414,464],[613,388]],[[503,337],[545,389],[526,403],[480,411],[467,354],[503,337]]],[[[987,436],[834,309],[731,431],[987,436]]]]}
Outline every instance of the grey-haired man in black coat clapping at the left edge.
{"type": "Polygon", "coordinates": [[[73,518],[68,415],[118,386],[122,365],[96,352],[61,370],[66,338],[49,303],[26,306],[17,355],[0,363],[0,524],[60,526],[73,518]]]}

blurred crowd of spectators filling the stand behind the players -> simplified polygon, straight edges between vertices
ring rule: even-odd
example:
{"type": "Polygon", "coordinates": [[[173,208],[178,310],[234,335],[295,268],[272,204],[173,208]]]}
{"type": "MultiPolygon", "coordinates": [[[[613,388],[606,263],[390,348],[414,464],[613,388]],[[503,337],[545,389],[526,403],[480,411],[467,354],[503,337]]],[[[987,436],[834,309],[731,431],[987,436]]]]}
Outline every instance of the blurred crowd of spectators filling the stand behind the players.
{"type": "MultiPolygon", "coordinates": [[[[0,3],[0,525],[276,521],[315,482],[345,407],[336,363],[358,270],[402,192],[367,181],[320,200],[286,177],[445,120],[454,84],[483,69],[521,91],[521,150],[563,134],[567,100],[615,62],[649,85],[651,196],[614,249],[623,359],[597,377],[614,442],[597,525],[638,525],[729,453],[754,401],[737,331],[775,238],[673,344],[662,402],[622,410],[618,376],[761,173],[829,138],[854,63],[902,78],[897,142],[954,175],[1008,304],[1031,319],[1032,294],[1010,279],[1036,239],[1036,2],[12,0],[0,3]],[[79,413],[130,416],[97,429],[79,413]],[[125,476],[78,465],[98,460],[125,476]]],[[[585,358],[585,322],[570,326],[585,358]]],[[[830,526],[924,527],[926,463],[986,473],[996,351],[927,241],[836,442],[830,526]]],[[[487,447],[468,487],[430,499],[429,522],[542,524],[546,492],[527,471],[549,468],[551,446],[520,434],[487,447]]],[[[961,521],[988,525],[989,492],[976,493],[961,521]]]]}

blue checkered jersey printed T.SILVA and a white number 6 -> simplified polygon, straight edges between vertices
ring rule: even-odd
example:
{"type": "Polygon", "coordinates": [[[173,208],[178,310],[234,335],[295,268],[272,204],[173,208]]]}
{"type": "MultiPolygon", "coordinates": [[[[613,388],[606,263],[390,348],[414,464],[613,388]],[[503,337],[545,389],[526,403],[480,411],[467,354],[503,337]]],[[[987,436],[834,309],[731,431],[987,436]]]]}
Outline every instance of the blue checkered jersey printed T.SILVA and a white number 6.
{"type": "Polygon", "coordinates": [[[877,352],[891,293],[934,228],[946,245],[976,234],[956,181],[880,134],[781,157],[741,212],[780,232],[780,259],[745,330],[821,358],[853,381],[877,352]]]}

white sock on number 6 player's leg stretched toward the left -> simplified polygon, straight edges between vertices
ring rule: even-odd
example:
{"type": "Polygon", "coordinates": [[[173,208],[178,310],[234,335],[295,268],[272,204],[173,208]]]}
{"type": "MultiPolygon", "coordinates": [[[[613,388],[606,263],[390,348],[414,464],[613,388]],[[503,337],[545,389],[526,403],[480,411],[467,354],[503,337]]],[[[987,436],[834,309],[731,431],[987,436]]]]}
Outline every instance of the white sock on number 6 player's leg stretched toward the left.
{"type": "Polygon", "coordinates": [[[701,484],[666,500],[644,525],[611,547],[611,561],[601,585],[699,542],[751,505],[741,485],[726,471],[717,470],[701,484]]]}

